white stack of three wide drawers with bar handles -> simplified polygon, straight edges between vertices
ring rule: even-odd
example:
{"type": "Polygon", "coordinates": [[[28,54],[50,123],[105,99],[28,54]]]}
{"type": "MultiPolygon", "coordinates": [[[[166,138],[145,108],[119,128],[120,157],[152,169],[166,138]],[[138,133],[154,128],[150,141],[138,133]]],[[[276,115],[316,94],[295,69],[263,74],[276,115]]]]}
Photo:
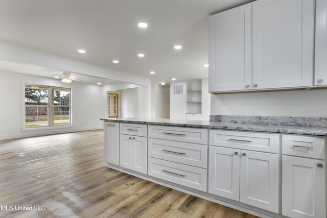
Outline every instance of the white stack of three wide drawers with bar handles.
{"type": "Polygon", "coordinates": [[[206,191],[207,130],[148,126],[148,175],[206,191]]]}

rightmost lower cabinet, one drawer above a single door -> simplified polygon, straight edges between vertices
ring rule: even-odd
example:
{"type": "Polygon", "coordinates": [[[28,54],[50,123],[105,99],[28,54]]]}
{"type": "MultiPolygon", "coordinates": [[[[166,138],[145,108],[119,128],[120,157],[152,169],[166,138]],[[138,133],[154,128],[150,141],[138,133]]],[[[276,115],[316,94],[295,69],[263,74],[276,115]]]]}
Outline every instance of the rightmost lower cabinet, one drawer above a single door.
{"type": "Polygon", "coordinates": [[[326,217],[324,138],[282,138],[282,214],[296,218],[326,217]]]}

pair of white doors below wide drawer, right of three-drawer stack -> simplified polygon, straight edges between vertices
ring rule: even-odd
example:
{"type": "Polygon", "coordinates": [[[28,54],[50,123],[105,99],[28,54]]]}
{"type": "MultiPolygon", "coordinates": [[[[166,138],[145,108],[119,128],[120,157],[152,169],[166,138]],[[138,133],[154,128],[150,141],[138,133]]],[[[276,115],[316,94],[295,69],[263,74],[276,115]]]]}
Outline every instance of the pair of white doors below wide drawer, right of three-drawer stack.
{"type": "Polygon", "coordinates": [[[209,146],[208,192],[278,213],[278,154],[209,146]]]}

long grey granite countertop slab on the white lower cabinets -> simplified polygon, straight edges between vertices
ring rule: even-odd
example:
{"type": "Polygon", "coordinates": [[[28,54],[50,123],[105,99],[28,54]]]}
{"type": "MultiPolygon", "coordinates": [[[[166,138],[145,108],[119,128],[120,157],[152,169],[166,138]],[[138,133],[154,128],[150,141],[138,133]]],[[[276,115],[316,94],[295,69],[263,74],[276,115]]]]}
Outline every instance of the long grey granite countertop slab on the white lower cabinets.
{"type": "Polygon", "coordinates": [[[105,122],[162,125],[172,127],[208,128],[221,130],[255,131],[300,135],[327,136],[327,127],[256,125],[209,122],[208,120],[162,119],[162,118],[101,118],[105,122]]]}

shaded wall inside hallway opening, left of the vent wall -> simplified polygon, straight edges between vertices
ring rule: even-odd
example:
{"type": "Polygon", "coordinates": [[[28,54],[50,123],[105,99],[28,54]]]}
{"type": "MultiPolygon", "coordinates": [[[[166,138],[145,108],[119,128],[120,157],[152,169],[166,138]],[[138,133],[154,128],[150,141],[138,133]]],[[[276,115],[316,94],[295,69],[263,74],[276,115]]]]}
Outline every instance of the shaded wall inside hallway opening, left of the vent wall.
{"type": "Polygon", "coordinates": [[[170,86],[155,85],[155,118],[170,118],[170,86]]]}

